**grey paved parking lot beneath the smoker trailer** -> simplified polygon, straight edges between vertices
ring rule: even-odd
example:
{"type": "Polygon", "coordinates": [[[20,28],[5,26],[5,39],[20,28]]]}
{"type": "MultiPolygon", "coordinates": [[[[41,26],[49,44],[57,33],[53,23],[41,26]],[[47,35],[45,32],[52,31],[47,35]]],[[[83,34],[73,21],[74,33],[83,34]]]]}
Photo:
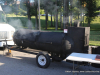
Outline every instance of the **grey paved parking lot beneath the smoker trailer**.
{"type": "MultiPolygon", "coordinates": [[[[0,51],[0,75],[73,75],[73,64],[65,60],[51,62],[48,68],[43,69],[37,66],[36,55],[13,50],[12,54],[13,57],[7,57],[0,51]]],[[[100,75],[100,68],[81,66],[75,72],[74,75],[100,75]]]]}

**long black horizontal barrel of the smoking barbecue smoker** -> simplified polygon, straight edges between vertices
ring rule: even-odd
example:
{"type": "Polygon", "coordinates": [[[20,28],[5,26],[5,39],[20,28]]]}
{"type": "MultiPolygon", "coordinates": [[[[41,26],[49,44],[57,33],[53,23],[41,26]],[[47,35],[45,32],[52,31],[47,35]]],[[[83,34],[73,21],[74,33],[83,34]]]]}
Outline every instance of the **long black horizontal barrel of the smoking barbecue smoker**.
{"type": "Polygon", "coordinates": [[[66,50],[71,50],[73,46],[73,41],[68,37],[67,34],[59,32],[30,32],[30,30],[16,31],[14,34],[14,42],[18,46],[30,47],[56,53],[62,53],[66,50]]]}

